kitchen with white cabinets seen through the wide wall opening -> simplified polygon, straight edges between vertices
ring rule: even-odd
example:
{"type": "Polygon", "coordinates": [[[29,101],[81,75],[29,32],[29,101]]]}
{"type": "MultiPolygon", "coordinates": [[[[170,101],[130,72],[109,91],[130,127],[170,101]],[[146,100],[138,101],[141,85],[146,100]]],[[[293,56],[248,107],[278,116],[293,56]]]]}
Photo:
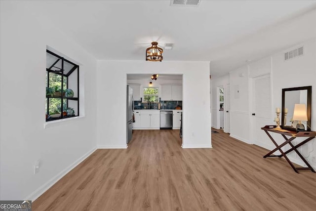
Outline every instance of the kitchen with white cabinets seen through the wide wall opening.
{"type": "Polygon", "coordinates": [[[127,74],[126,79],[126,84],[133,89],[132,130],[156,130],[157,133],[160,130],[162,133],[162,129],[169,128],[173,130],[169,132],[178,133],[177,136],[182,138],[183,75],[127,74]],[[168,125],[163,124],[163,112],[171,112],[168,125]]]}

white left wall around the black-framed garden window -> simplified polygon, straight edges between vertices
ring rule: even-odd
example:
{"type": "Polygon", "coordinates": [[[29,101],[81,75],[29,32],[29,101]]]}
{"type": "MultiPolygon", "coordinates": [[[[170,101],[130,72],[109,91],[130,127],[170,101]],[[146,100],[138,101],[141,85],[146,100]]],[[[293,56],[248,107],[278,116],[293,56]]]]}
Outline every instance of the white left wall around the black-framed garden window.
{"type": "Polygon", "coordinates": [[[1,1],[1,200],[36,199],[96,148],[96,60],[22,6],[31,3],[1,1]],[[46,45],[81,64],[85,117],[44,129],[46,45]]]}

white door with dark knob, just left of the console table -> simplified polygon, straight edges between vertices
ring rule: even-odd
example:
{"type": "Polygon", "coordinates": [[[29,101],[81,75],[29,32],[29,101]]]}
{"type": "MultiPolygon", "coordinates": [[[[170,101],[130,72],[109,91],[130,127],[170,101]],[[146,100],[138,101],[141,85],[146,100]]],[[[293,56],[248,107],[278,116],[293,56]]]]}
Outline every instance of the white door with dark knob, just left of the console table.
{"type": "Polygon", "coordinates": [[[274,144],[261,129],[261,127],[273,124],[270,75],[253,78],[252,100],[253,143],[266,149],[273,149],[274,144]]]}

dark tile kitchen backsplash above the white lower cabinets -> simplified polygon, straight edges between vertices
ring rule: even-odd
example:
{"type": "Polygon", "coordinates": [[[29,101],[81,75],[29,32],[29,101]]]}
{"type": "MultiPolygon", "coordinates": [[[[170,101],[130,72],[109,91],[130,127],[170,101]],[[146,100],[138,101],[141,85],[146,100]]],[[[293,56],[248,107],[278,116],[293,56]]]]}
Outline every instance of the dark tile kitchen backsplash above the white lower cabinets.
{"type": "MultiPolygon", "coordinates": [[[[141,101],[134,101],[134,109],[158,109],[158,103],[142,103],[141,101]]],[[[180,107],[182,109],[182,101],[160,101],[160,109],[170,109],[174,110],[176,107],[180,107]]]]}

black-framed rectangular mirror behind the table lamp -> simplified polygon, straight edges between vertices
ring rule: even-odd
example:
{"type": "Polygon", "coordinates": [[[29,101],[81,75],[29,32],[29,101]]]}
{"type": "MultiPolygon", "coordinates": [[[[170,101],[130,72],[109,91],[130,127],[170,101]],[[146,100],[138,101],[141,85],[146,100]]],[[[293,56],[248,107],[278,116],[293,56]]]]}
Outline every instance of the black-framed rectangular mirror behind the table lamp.
{"type": "Polygon", "coordinates": [[[311,131],[312,124],[312,86],[301,86],[293,88],[282,88],[282,116],[281,127],[287,130],[296,130],[298,121],[291,122],[295,104],[305,104],[307,121],[302,121],[305,130],[311,131]],[[284,111],[287,109],[287,115],[284,111]]]}

